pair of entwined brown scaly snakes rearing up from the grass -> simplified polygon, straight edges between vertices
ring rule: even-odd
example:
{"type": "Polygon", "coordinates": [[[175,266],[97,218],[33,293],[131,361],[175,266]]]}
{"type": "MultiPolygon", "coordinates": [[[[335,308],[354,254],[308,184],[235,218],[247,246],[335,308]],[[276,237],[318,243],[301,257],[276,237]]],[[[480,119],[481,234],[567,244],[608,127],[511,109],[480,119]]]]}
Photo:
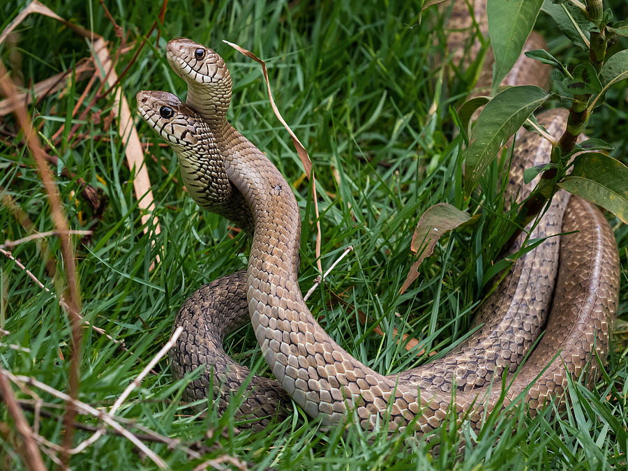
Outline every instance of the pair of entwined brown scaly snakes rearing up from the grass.
{"type": "MultiPolygon", "coordinates": [[[[366,429],[412,424],[426,432],[438,427],[451,407],[455,382],[456,410],[469,411],[472,426],[479,428],[481,412],[492,410],[502,392],[498,380],[491,384],[493,378],[521,364],[546,322],[552,294],[546,333],[511,384],[506,402],[534,382],[525,392],[534,413],[550,396],[562,396],[567,375],[578,377],[594,348],[606,357],[618,297],[615,240],[597,208],[559,194],[532,233],[536,238],[578,231],[560,238],[558,278],[558,237],[551,237],[514,264],[479,310],[474,322],[481,327],[446,357],[389,376],[361,364],[327,336],[304,304],[297,282],[297,202],[276,167],[227,123],[231,80],[224,61],[186,39],[170,41],[167,57],[188,83],[188,105],[172,94],[142,91],[137,95],[142,117],[176,152],[189,193],[201,207],[231,218],[248,232],[254,223],[246,274],[200,288],[177,316],[175,326],[183,325],[185,332],[171,352],[174,375],[206,365],[206,373],[190,383],[188,399],[207,397],[211,384],[215,392],[237,391],[248,376],[248,369],[227,357],[222,342],[249,315],[264,359],[278,379],[254,376],[246,389],[240,412],[258,418],[253,422],[257,426],[267,423],[278,403],[289,402],[287,393],[325,424],[343,421],[347,410],[354,409],[366,429]]],[[[565,113],[545,112],[539,122],[560,135],[565,113]]],[[[537,135],[519,133],[511,197],[521,200],[529,193],[523,170],[546,161],[548,153],[548,144],[537,135]]],[[[596,366],[593,362],[589,381],[596,366]]],[[[220,408],[226,403],[221,401],[220,408]]]]}

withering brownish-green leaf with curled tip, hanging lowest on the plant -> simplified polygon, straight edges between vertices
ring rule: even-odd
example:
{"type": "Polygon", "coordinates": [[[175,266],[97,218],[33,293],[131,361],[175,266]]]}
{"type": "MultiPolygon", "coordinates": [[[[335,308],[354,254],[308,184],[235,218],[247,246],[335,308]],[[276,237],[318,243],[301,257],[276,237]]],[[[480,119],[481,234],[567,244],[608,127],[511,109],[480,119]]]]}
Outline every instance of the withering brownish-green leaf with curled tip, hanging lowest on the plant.
{"type": "Polygon", "coordinates": [[[468,220],[470,220],[470,216],[467,213],[449,203],[434,204],[421,215],[410,245],[412,252],[419,253],[419,259],[412,264],[408,276],[401,286],[402,293],[417,279],[419,265],[426,257],[432,255],[438,239],[468,220]]]}

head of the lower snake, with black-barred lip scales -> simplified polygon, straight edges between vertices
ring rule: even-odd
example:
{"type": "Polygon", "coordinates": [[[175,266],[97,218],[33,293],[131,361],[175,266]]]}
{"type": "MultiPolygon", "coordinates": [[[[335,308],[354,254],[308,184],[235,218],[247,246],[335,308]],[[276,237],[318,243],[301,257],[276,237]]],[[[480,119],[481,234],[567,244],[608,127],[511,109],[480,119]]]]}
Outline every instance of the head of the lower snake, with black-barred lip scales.
{"type": "Polygon", "coordinates": [[[167,91],[142,90],[135,99],[144,121],[172,147],[195,147],[207,127],[192,108],[167,91]]]}

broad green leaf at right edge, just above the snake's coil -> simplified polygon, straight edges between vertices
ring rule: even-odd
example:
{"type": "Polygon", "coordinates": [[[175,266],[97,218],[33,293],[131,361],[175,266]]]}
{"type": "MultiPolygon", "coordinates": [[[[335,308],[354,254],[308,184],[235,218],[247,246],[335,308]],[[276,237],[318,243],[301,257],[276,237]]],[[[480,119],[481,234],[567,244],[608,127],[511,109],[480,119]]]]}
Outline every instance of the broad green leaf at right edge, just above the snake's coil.
{"type": "Polygon", "coordinates": [[[558,186],[628,223],[628,167],[619,160],[599,152],[580,154],[574,170],[558,186]]]}

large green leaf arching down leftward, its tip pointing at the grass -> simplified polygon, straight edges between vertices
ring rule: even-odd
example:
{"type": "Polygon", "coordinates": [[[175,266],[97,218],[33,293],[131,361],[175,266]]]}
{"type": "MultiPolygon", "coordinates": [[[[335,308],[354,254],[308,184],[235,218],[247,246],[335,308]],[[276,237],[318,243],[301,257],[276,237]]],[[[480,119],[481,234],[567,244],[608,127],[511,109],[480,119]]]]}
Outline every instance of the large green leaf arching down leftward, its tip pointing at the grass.
{"type": "Polygon", "coordinates": [[[505,89],[486,104],[464,151],[465,197],[471,194],[500,148],[547,98],[544,89],[523,85],[505,89]]]}

